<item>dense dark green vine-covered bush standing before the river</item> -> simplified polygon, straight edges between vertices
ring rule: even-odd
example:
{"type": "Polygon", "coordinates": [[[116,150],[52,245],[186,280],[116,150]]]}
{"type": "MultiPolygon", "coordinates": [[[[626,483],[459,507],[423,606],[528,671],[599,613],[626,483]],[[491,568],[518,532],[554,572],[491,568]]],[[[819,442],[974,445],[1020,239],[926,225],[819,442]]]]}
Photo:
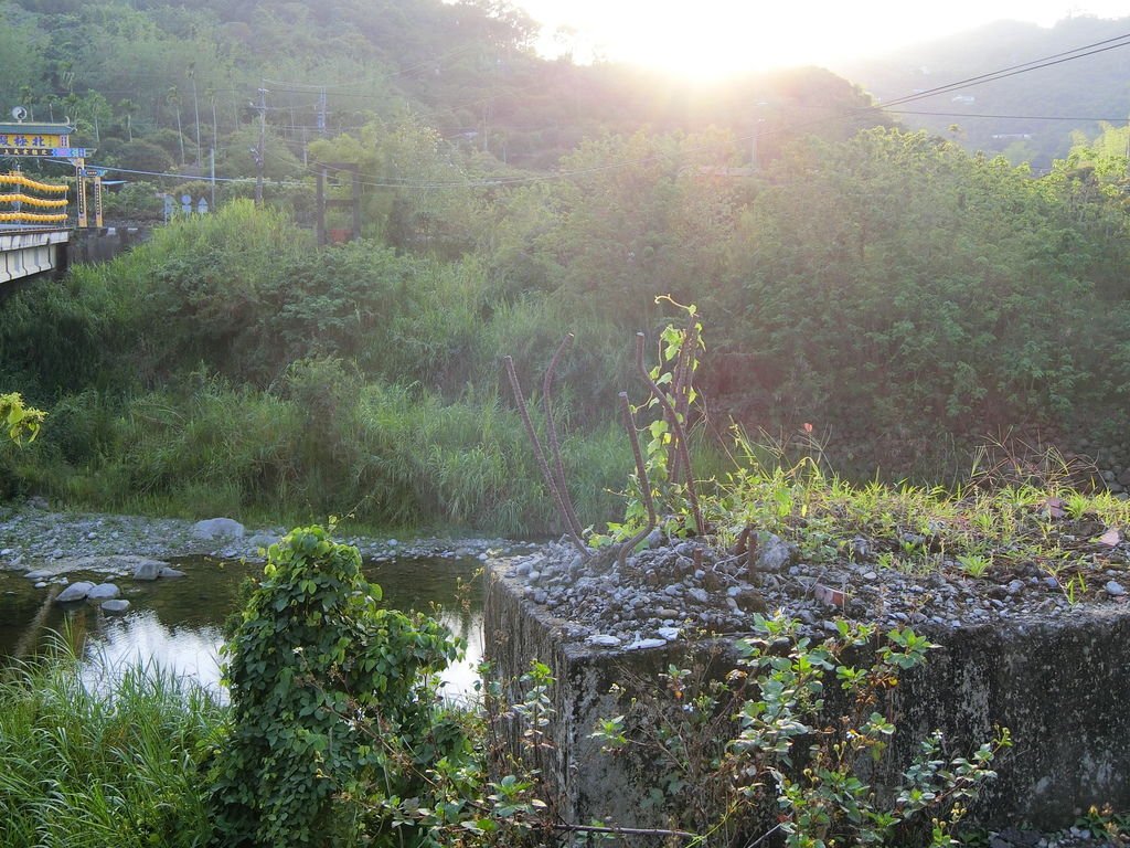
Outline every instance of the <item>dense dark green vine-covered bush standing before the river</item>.
{"type": "Polygon", "coordinates": [[[458,643],[380,598],[357,550],[321,527],[269,548],[224,648],[232,727],[212,769],[217,845],[357,843],[393,827],[386,807],[425,790],[428,764],[466,752],[435,713],[434,675],[458,643]]]}

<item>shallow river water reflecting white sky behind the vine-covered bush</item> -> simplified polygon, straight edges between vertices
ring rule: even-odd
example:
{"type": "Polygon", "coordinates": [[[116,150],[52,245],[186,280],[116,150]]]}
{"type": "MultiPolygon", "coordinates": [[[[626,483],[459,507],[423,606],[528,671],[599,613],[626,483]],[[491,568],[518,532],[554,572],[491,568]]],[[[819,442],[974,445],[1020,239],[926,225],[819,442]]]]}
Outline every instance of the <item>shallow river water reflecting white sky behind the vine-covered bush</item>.
{"type": "MultiPolygon", "coordinates": [[[[16,572],[0,572],[0,663],[33,652],[67,630],[79,646],[92,677],[131,663],[156,663],[192,677],[223,698],[218,649],[224,620],[235,611],[244,578],[261,564],[212,557],[169,560],[185,577],[136,582],[113,580],[130,602],[125,615],[111,616],[96,605],[60,607],[16,572]]],[[[444,692],[471,693],[483,656],[483,563],[476,559],[411,557],[365,564],[365,576],[380,583],[384,603],[399,609],[435,614],[467,642],[467,656],[443,675],[444,692]],[[478,577],[477,577],[478,576],[478,577]]],[[[104,576],[69,576],[102,582],[104,576]]]]}

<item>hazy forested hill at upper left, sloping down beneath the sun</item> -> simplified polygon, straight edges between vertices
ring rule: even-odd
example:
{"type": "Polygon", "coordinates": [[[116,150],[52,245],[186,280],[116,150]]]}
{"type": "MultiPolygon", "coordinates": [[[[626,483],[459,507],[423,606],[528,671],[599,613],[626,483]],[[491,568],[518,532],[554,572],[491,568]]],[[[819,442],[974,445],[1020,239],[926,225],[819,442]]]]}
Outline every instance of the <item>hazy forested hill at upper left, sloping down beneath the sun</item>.
{"type": "Polygon", "coordinates": [[[620,66],[544,60],[536,34],[497,0],[5,0],[0,105],[71,116],[103,164],[181,170],[215,144],[220,171],[235,176],[254,170],[254,139],[240,132],[258,128],[260,87],[271,136],[298,159],[320,135],[409,112],[464,150],[534,170],[603,132],[716,126],[760,135],[757,155],[771,158],[796,136],[888,123],[828,71],[695,90],[620,66]]]}

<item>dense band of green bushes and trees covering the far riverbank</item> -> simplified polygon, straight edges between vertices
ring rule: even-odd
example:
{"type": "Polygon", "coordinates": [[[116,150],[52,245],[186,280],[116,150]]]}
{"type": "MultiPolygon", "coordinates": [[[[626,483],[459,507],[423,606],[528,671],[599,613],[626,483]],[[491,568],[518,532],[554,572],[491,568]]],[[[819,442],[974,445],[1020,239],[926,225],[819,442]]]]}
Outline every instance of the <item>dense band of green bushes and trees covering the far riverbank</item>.
{"type": "Polygon", "coordinates": [[[879,455],[928,471],[939,444],[1011,425],[1113,429],[1130,313],[1119,158],[1101,148],[1036,180],[873,130],[732,178],[707,164],[724,133],[606,137],[571,180],[461,189],[427,219],[464,237],[399,250],[316,249],[284,213],[232,204],[3,302],[3,384],[51,413],[2,455],[5,486],[544,530],[499,362],[536,390],[573,331],[558,412],[599,523],[631,464],[615,392],[643,397],[631,340],[677,312],[668,293],[706,323],[703,434],[816,422],[834,466],[851,450],[870,475],[879,455]]]}

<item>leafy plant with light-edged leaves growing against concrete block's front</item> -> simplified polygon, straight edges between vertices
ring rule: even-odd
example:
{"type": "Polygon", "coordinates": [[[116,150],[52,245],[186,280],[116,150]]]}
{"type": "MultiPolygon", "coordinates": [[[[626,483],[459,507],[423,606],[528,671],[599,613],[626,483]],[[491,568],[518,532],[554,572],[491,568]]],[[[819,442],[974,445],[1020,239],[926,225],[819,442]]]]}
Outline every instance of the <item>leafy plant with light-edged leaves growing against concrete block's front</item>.
{"type": "Polygon", "coordinates": [[[716,656],[697,670],[671,666],[663,692],[619,690],[627,710],[602,719],[593,737],[650,775],[652,803],[701,838],[725,843],[775,816],[772,830],[789,848],[954,845],[967,803],[996,777],[1008,730],[972,758],[948,760],[936,732],[880,794],[868,779],[896,732],[889,693],[933,646],[912,630],[880,640],[873,626],[845,621],[822,643],[798,629],[755,616],[756,635],[737,643],[738,667],[724,678],[707,673],[716,656]],[[851,659],[868,649],[870,664],[851,659]]]}

